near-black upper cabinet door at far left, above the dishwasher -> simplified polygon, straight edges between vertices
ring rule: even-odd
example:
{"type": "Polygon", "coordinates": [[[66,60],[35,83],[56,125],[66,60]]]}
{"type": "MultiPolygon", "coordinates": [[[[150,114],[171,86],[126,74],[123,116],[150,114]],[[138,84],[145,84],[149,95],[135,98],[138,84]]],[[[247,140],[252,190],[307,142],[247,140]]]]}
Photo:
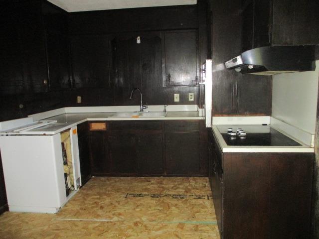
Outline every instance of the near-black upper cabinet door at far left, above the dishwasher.
{"type": "Polygon", "coordinates": [[[1,95],[48,90],[45,35],[40,2],[0,3],[1,95]]]}

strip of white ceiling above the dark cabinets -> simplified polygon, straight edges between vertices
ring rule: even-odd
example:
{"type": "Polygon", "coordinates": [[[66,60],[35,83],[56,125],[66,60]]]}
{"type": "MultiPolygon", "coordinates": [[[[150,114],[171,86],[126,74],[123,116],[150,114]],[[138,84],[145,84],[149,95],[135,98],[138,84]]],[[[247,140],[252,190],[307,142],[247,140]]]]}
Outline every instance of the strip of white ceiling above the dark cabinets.
{"type": "Polygon", "coordinates": [[[197,0],[48,0],[68,12],[196,4],[197,0]]]}

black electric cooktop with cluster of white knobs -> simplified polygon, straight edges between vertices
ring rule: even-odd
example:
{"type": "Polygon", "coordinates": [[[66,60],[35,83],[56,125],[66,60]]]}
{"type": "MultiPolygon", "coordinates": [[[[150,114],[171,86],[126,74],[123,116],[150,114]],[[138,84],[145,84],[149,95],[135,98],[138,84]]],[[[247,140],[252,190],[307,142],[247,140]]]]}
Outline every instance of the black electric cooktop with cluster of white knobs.
{"type": "Polygon", "coordinates": [[[302,146],[300,143],[286,136],[270,126],[218,126],[218,130],[221,132],[225,142],[229,146],[302,146]],[[241,138],[236,136],[231,138],[227,134],[227,128],[233,128],[233,132],[236,132],[240,127],[246,131],[246,137],[241,138]],[[245,129],[245,127],[247,129],[245,129]]]}

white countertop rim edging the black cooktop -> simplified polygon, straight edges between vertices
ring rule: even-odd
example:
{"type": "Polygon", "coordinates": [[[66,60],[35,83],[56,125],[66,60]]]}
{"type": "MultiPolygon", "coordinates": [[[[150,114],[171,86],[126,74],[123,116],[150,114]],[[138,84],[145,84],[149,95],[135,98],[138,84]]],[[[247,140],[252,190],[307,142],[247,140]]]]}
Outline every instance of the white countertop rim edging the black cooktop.
{"type": "MultiPolygon", "coordinates": [[[[271,126],[271,125],[270,125],[271,126]]],[[[229,146],[226,144],[223,136],[219,132],[217,125],[212,126],[213,133],[217,142],[223,152],[291,152],[291,153],[313,153],[315,150],[310,146],[293,138],[302,146],[229,146]]],[[[284,133],[286,136],[292,138],[290,135],[284,133]]]]}

